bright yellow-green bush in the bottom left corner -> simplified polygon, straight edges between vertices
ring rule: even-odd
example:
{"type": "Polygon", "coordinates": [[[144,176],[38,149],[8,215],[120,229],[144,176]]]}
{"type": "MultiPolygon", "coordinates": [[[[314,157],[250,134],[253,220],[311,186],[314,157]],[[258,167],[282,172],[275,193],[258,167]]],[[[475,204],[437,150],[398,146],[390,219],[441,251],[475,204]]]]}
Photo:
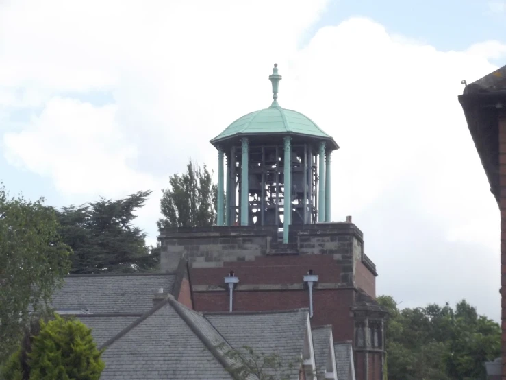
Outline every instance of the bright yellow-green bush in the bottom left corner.
{"type": "Polygon", "coordinates": [[[1,372],[3,379],[99,380],[105,364],[88,327],[57,315],[38,324],[38,333],[27,331],[29,344],[10,357],[1,372]]]}

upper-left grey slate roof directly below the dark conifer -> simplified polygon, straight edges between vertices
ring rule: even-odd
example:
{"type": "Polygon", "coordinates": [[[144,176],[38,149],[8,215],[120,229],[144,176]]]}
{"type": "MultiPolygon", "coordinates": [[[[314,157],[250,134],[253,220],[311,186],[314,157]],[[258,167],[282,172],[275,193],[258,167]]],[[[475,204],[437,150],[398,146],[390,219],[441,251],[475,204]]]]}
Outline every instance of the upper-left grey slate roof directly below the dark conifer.
{"type": "Polygon", "coordinates": [[[51,307],[88,313],[145,313],[161,287],[173,291],[173,274],[88,274],[67,276],[51,307]]]}

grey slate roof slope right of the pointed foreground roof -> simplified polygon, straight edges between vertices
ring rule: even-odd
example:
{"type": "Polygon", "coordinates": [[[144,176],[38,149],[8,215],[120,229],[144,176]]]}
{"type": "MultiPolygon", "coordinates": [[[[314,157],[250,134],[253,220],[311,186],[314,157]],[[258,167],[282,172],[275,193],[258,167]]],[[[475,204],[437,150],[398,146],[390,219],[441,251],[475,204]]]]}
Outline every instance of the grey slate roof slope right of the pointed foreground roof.
{"type": "Polygon", "coordinates": [[[307,332],[307,309],[255,313],[204,313],[205,318],[246,360],[255,354],[279,355],[283,375],[296,379],[307,332]]]}

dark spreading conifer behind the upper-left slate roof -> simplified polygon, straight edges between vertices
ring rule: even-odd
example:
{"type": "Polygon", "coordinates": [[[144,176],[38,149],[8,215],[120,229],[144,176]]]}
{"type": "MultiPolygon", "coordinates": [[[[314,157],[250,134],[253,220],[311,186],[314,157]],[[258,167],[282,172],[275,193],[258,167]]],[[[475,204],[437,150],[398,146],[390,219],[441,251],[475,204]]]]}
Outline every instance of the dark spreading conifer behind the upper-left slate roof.
{"type": "Polygon", "coordinates": [[[72,247],[72,274],[155,270],[160,255],[146,245],[146,234],[132,225],[134,212],[151,191],[125,199],[90,202],[58,211],[60,234],[72,247]]]}

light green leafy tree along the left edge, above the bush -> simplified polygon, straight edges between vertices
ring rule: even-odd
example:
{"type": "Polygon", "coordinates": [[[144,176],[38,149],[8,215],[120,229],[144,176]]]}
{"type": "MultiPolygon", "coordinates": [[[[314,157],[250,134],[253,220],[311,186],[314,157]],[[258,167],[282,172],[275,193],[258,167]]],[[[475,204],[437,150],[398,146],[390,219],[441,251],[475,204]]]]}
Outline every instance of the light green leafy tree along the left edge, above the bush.
{"type": "Polygon", "coordinates": [[[0,187],[0,363],[18,344],[34,311],[68,274],[71,248],[58,235],[58,218],[43,198],[10,198],[0,187]]]}

